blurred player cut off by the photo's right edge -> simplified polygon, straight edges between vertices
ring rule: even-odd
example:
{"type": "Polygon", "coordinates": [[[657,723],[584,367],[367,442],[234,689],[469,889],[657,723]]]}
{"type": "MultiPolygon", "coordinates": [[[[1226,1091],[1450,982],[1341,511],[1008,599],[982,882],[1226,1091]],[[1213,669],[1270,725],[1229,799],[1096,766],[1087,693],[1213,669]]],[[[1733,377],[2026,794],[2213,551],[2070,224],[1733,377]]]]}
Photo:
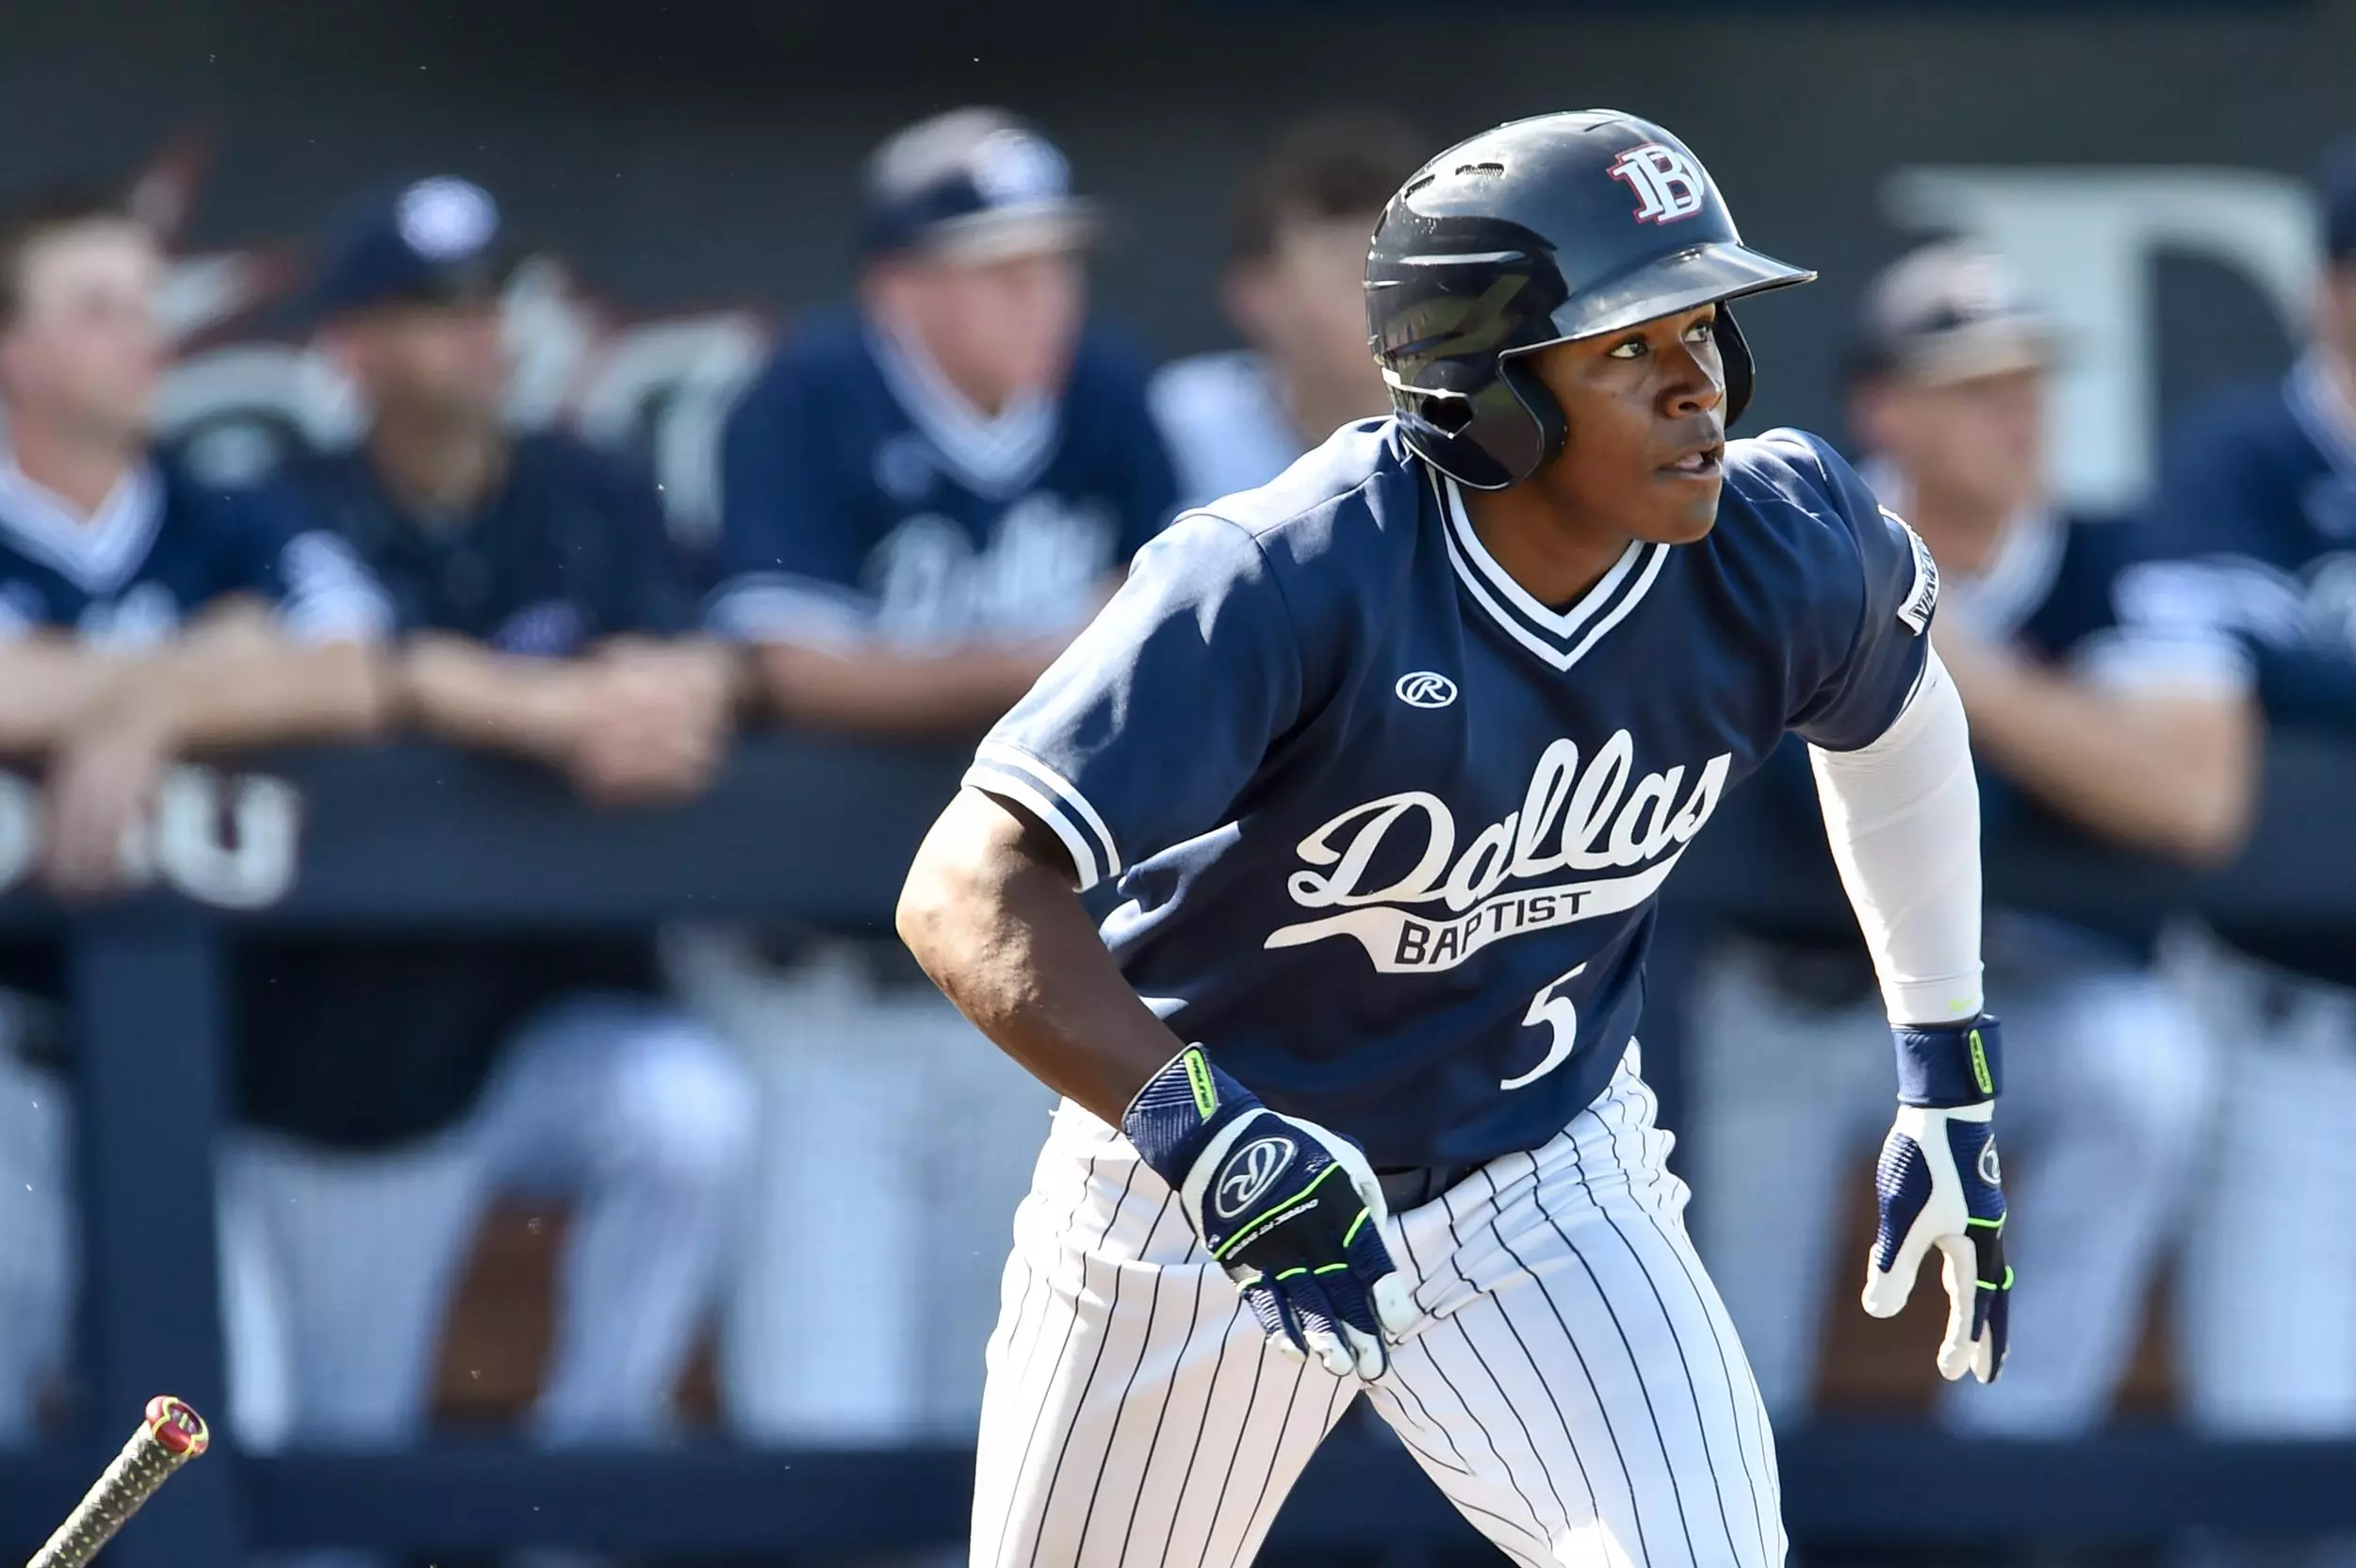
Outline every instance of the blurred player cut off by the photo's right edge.
{"type": "MultiPolygon", "coordinates": [[[[2278,386],[2177,426],[2151,523],[2182,560],[2139,570],[2125,605],[2231,636],[2271,725],[2356,735],[2356,141],[2323,160],[2316,198],[2314,341],[2278,386]]],[[[2316,925],[2217,935],[2191,961],[2233,1050],[2184,1269],[2186,1410],[2231,1436],[2351,1436],[2356,944],[2316,925]]]]}

